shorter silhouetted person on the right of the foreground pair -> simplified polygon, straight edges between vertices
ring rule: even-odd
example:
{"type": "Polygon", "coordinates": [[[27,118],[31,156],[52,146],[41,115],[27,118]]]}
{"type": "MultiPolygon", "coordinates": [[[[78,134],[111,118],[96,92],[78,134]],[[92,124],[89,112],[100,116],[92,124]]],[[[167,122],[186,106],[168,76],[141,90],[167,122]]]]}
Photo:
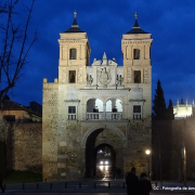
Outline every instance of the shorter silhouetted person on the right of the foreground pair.
{"type": "Polygon", "coordinates": [[[142,172],[140,176],[140,181],[139,181],[139,194],[150,195],[151,191],[152,191],[151,181],[147,178],[147,174],[145,172],[142,172]]]}

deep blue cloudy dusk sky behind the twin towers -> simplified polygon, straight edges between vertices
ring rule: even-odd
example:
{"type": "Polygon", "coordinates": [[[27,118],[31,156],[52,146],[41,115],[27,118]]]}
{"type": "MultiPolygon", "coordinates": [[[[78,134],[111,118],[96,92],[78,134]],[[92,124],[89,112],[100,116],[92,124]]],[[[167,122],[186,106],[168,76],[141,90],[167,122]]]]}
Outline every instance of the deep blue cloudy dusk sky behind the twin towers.
{"type": "MultiPolygon", "coordinates": [[[[30,0],[28,0],[29,2],[30,0]]],[[[28,3],[27,2],[27,3],[28,3]]],[[[24,3],[26,3],[24,1],[24,3]]],[[[24,8],[17,22],[25,18],[24,8]]],[[[195,1],[193,0],[36,0],[29,39],[38,30],[23,76],[10,98],[24,105],[42,104],[42,80],[58,77],[60,32],[67,30],[77,11],[79,28],[88,34],[91,55],[116,58],[122,65],[121,38],[134,25],[138,12],[140,27],[152,34],[153,99],[157,79],[161,81],[166,102],[169,99],[195,99],[195,1]]]]}

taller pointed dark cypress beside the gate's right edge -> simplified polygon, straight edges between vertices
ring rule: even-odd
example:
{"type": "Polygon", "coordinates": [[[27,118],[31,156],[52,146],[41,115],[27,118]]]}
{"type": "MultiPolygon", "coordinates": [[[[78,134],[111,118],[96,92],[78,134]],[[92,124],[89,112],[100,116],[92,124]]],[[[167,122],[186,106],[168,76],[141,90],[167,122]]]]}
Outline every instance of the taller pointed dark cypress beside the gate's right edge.
{"type": "Polygon", "coordinates": [[[161,88],[159,79],[157,81],[157,88],[155,92],[155,99],[153,100],[153,119],[165,120],[167,118],[167,108],[164,98],[164,90],[161,88]]]}

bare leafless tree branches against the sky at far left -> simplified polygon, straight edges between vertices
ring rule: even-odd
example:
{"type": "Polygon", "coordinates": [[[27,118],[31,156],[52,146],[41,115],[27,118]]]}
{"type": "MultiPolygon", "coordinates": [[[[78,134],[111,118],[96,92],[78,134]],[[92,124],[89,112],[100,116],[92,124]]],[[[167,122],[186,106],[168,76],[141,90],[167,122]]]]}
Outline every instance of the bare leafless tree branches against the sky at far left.
{"type": "Polygon", "coordinates": [[[28,53],[37,40],[36,31],[31,41],[28,40],[30,37],[28,27],[35,0],[31,0],[29,8],[23,2],[22,0],[1,0],[0,2],[0,106],[8,91],[20,80],[22,70],[28,63],[28,53]],[[27,12],[23,24],[16,20],[22,13],[20,10],[22,6],[27,12]]]}

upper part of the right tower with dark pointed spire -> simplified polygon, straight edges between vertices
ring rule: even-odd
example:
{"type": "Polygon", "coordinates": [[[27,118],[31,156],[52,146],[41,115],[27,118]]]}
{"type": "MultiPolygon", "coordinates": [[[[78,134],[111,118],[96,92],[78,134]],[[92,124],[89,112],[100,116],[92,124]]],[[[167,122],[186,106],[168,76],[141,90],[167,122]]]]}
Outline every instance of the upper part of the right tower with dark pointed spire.
{"type": "Polygon", "coordinates": [[[135,13],[134,26],[122,36],[121,41],[125,83],[151,84],[151,36],[140,28],[135,13]]]}

